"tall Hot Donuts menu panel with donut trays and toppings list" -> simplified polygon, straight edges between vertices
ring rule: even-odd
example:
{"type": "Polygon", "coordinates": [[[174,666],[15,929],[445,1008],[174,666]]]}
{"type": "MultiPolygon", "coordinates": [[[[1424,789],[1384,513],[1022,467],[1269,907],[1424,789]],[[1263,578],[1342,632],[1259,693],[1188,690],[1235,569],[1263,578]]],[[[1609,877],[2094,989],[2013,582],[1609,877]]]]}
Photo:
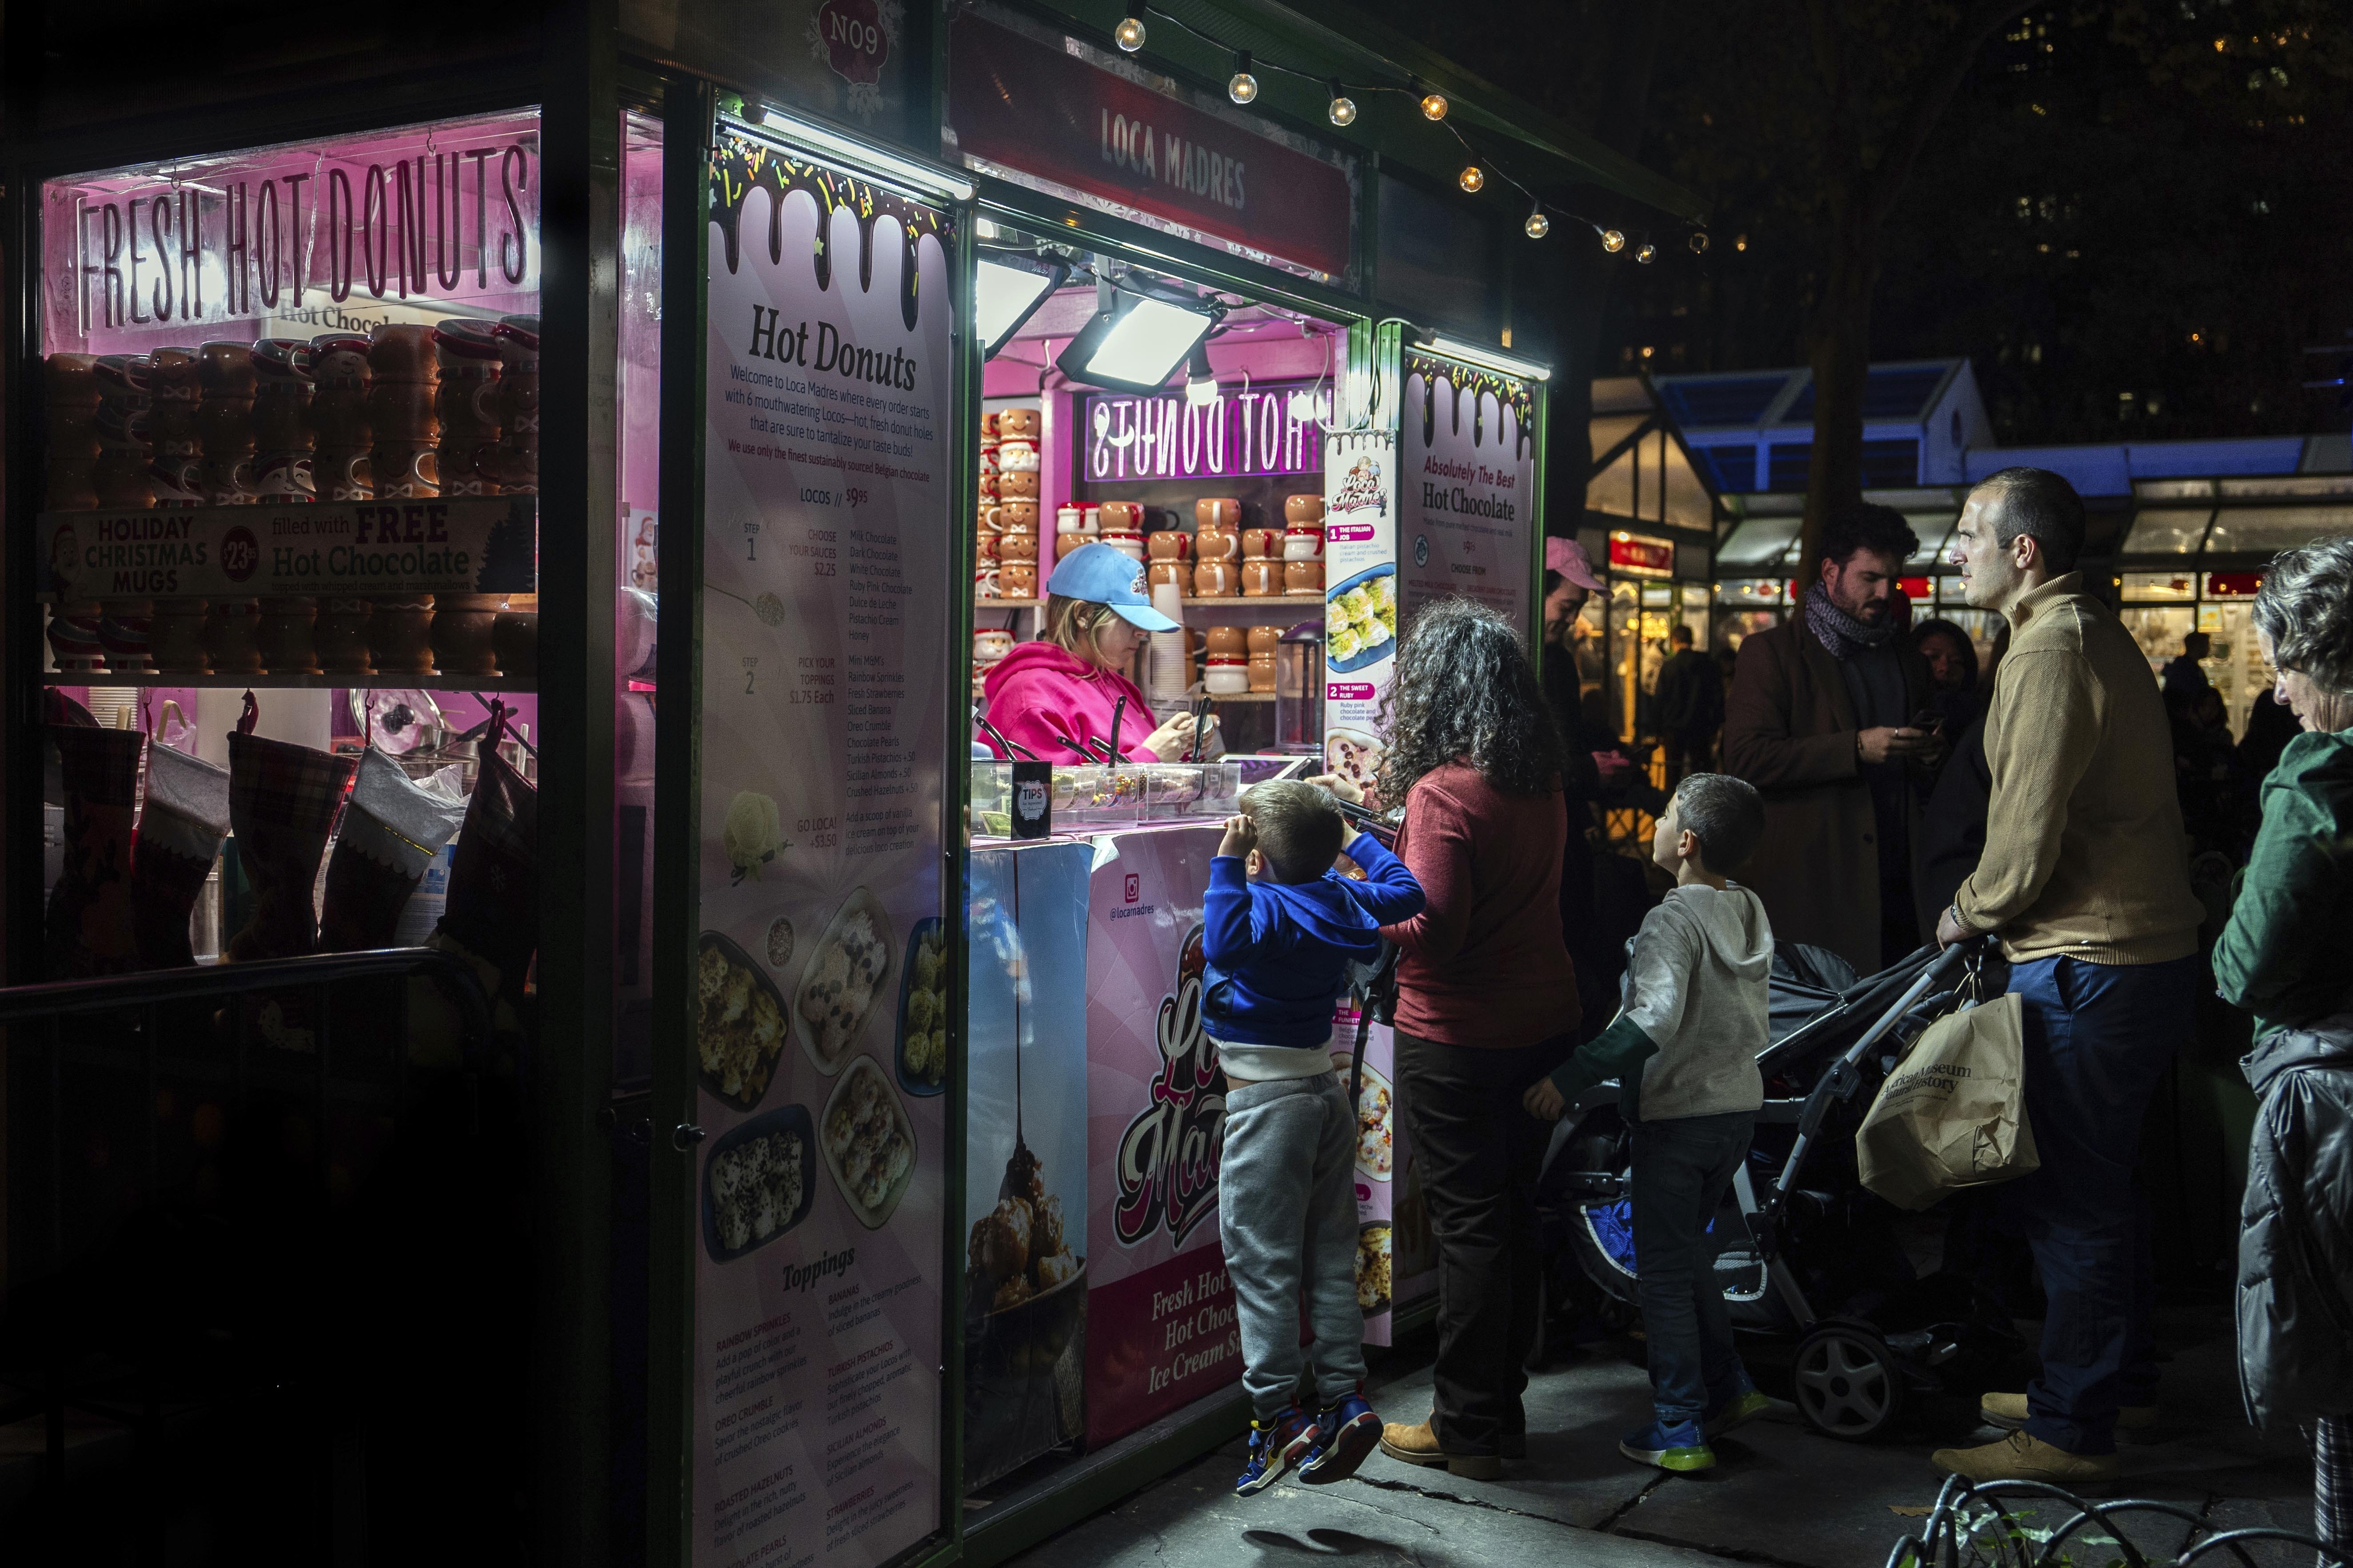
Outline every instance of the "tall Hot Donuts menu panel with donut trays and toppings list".
{"type": "Polygon", "coordinates": [[[718,143],[694,1563],[882,1563],[939,1523],[953,216],[718,143]]]}

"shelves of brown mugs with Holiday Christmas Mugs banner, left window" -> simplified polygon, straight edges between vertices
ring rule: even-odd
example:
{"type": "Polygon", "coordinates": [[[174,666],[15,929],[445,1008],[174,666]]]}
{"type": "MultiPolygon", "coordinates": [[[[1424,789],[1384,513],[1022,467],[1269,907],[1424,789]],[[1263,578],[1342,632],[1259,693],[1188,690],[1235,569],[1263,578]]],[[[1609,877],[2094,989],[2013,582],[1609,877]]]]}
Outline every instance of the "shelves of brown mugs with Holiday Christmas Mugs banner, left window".
{"type": "Polygon", "coordinates": [[[536,675],[539,317],[54,353],[42,393],[59,682],[536,675]]]}

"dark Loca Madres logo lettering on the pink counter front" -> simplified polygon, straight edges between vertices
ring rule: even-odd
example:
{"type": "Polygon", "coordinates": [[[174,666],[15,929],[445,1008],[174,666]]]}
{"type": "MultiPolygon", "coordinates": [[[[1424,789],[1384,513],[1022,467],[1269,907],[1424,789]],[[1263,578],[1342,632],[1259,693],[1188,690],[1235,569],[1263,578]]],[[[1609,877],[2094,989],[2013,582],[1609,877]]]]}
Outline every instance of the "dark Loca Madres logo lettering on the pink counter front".
{"type": "Polygon", "coordinates": [[[1176,957],[1176,990],[1160,999],[1160,1072],[1153,1100],[1120,1133],[1120,1201],[1111,1225],[1134,1246],[1167,1225],[1184,1246],[1217,1215],[1217,1157],[1226,1143],[1226,1095],[1217,1093],[1217,1048],[1200,1016],[1207,973],[1202,929],[1186,933],[1176,957]]]}

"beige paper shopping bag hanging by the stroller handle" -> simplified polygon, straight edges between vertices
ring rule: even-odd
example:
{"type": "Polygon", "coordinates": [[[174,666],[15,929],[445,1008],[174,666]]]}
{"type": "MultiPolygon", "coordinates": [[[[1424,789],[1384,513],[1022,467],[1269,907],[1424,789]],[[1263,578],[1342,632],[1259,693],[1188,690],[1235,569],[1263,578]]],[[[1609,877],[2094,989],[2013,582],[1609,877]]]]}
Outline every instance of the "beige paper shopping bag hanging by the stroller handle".
{"type": "Polygon", "coordinates": [[[2017,1180],[2042,1161],[2026,1121],[2017,994],[1939,1018],[1897,1063],[1854,1135],[1864,1185],[1897,1208],[2017,1180]]]}

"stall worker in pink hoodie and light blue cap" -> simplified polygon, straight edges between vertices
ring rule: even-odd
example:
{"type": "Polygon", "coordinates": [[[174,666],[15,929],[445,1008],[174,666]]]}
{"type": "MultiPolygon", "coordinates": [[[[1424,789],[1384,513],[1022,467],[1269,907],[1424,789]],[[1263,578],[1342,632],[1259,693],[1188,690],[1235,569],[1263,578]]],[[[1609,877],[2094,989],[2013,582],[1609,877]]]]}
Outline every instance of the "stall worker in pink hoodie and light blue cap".
{"type": "Polygon", "coordinates": [[[1176,623],[1144,597],[1144,567],[1111,545],[1080,545],[1047,581],[1045,637],[1024,642],[988,672],[988,722],[1042,762],[1071,766],[1087,741],[1111,745],[1113,712],[1127,698],[1120,755],[1174,762],[1193,745],[1193,715],[1158,724],[1144,689],[1125,675],[1146,632],[1172,630],[1176,623]]]}

